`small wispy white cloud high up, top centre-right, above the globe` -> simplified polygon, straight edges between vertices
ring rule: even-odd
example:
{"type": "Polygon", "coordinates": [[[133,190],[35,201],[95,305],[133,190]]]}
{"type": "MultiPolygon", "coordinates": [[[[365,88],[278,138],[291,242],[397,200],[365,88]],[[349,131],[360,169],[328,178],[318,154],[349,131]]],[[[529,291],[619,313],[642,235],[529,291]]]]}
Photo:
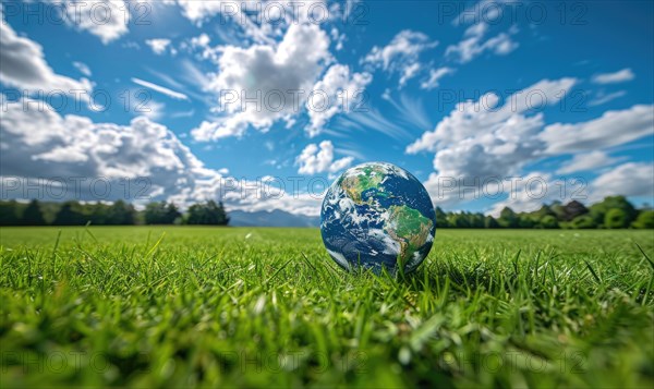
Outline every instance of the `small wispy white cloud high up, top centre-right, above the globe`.
{"type": "Polygon", "coordinates": [[[373,47],[361,62],[382,68],[387,72],[400,73],[400,86],[403,86],[422,69],[419,62],[420,53],[437,45],[437,41],[432,41],[423,33],[404,29],[398,33],[387,46],[373,47]]]}

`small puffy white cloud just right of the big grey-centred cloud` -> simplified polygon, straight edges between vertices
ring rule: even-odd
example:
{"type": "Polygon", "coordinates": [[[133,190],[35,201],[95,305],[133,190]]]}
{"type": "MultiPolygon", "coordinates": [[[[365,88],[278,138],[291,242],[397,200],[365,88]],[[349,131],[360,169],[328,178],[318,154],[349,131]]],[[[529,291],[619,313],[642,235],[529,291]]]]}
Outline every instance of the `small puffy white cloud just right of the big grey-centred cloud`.
{"type": "Polygon", "coordinates": [[[370,73],[351,73],[343,64],[331,65],[323,80],[314,86],[315,92],[306,101],[310,125],[306,127],[310,136],[315,136],[327,122],[338,112],[350,112],[358,109],[363,92],[372,81],[370,73]]]}

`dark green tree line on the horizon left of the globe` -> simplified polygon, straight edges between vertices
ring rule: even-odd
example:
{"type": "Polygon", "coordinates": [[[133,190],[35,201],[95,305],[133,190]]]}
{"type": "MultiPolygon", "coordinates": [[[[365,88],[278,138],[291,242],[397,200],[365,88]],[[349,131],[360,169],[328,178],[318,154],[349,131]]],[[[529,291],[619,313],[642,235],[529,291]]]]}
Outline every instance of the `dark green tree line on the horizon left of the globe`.
{"type": "Polygon", "coordinates": [[[143,210],[118,200],[106,203],[0,202],[0,226],[134,226],[205,224],[227,226],[229,217],[222,203],[194,204],[182,212],[173,203],[149,203],[143,210]]]}

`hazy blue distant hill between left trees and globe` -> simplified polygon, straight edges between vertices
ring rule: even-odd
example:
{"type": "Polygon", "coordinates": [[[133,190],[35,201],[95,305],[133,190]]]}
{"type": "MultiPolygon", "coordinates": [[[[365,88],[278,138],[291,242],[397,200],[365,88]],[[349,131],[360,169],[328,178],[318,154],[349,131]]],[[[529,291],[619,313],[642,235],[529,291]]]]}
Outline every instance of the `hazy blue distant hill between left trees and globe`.
{"type": "Polygon", "coordinates": [[[233,227],[318,227],[319,217],[293,215],[283,210],[246,212],[230,210],[229,226],[233,227]]]}

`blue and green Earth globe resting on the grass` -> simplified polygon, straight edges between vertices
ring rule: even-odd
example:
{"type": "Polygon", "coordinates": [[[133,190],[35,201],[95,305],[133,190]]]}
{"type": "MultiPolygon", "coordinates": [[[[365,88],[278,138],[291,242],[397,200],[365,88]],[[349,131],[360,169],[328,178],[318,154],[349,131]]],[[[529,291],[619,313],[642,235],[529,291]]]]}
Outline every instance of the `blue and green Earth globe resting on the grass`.
{"type": "Polygon", "coordinates": [[[407,170],[363,163],[327,191],[320,233],[331,258],[347,270],[408,273],[432,248],[436,214],[425,187],[407,170]]]}

